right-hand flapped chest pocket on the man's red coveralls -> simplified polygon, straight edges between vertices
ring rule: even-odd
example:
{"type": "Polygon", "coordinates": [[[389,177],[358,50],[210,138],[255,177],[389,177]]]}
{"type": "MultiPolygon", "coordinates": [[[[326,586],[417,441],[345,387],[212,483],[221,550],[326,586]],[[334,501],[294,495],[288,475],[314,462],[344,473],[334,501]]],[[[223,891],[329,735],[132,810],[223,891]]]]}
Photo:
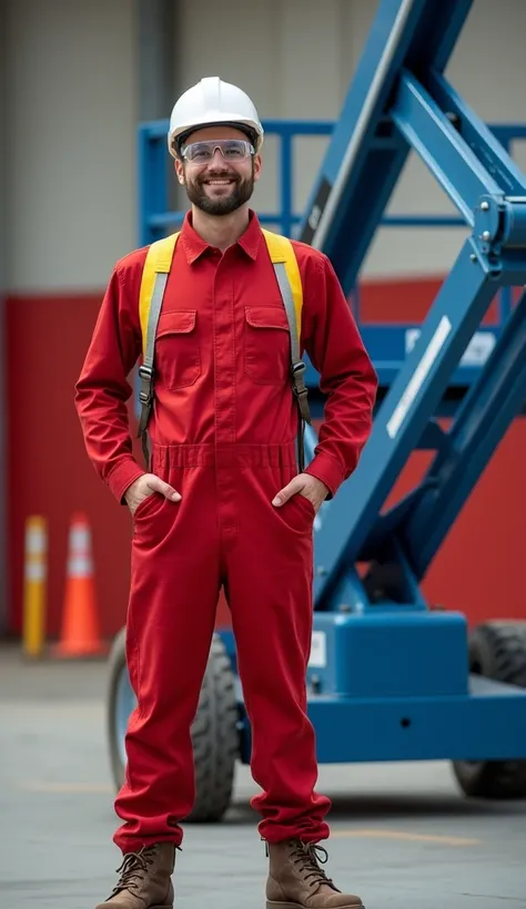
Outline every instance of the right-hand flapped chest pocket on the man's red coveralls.
{"type": "Polygon", "coordinates": [[[245,372],[259,385],[283,385],[290,375],[291,341],[284,307],[247,306],[245,372]]]}

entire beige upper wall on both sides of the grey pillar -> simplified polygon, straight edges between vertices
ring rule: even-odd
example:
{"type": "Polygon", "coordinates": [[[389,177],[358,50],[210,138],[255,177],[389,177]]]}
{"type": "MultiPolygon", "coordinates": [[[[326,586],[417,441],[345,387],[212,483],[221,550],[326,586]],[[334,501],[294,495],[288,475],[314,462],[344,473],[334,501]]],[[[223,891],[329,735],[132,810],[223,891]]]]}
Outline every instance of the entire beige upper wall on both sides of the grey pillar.
{"type": "MultiPolygon", "coordinates": [[[[8,0],[8,286],[98,288],[136,244],[133,0],[8,0]]],[[[181,84],[220,74],[241,83],[264,118],[337,116],[374,11],[373,0],[179,0],[173,37],[181,84]]],[[[526,121],[526,4],[475,0],[449,73],[493,121],[526,121]]],[[[166,115],[169,111],[166,111],[166,115]]],[[[297,143],[302,210],[323,141],[297,143]]],[[[276,146],[265,145],[254,204],[277,206],[276,146]]],[[[519,160],[526,167],[524,147],[519,160]]],[[[391,211],[445,213],[448,201],[416,161],[391,211]]],[[[446,270],[457,231],[382,231],[366,274],[446,270]]]]}

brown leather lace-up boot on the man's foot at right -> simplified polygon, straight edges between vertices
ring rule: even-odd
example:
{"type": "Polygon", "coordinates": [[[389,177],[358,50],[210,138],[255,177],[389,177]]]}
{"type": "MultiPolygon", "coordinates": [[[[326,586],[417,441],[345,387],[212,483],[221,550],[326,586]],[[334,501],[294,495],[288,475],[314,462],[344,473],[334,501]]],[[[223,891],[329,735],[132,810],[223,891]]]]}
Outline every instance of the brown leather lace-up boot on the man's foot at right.
{"type": "Polygon", "coordinates": [[[320,868],[328,858],[322,846],[289,839],[267,844],[267,855],[266,909],[364,909],[360,897],[342,893],[320,868]]]}

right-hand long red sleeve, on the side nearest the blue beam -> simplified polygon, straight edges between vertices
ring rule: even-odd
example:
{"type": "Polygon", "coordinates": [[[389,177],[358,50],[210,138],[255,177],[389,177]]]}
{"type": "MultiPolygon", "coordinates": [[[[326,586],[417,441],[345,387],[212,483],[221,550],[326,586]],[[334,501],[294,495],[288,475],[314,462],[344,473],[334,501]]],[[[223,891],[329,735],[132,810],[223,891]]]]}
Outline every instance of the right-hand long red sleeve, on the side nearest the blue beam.
{"type": "Polygon", "coordinates": [[[305,472],[322,480],[332,498],[356,468],[371,433],[377,377],[330,259],[318,254],[310,265],[304,345],[327,400],[305,472]]]}

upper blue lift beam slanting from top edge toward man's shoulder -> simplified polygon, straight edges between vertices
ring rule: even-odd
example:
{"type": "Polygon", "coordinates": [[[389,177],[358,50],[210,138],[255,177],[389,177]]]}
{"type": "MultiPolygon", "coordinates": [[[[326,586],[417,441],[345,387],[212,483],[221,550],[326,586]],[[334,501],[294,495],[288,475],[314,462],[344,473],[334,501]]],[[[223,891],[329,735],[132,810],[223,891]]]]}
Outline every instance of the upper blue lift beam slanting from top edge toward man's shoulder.
{"type": "Polygon", "coordinates": [[[346,293],[409,150],[387,116],[401,70],[445,67],[471,7],[472,0],[380,3],[299,234],[331,258],[346,293]]]}

